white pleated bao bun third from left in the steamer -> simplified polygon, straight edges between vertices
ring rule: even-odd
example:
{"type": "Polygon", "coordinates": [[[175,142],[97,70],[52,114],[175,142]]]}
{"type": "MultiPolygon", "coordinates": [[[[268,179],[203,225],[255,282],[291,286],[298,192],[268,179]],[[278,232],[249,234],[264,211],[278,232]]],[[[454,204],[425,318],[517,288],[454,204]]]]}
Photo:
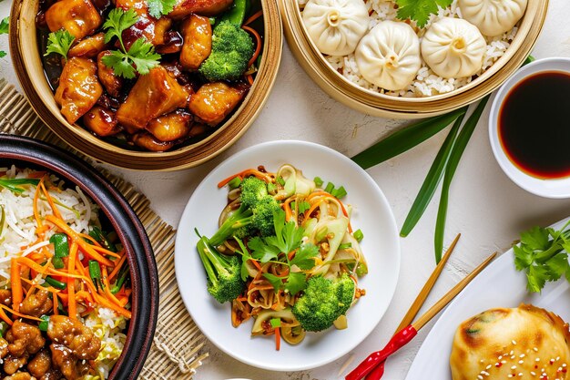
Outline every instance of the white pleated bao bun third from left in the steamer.
{"type": "Polygon", "coordinates": [[[471,77],[483,67],[487,43],[479,29],[460,18],[443,17],[425,32],[422,57],[440,77],[471,77]]]}

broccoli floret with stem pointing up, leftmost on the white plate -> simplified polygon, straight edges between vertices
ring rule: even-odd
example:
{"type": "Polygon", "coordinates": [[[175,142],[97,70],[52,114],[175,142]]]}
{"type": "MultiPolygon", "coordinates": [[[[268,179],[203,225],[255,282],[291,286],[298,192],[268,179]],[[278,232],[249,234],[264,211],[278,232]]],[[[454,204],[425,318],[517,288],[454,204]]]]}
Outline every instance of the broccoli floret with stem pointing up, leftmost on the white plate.
{"type": "Polygon", "coordinates": [[[208,277],[208,292],[219,302],[235,300],[245,289],[241,280],[241,260],[239,256],[226,256],[201,237],[197,244],[200,260],[208,277]]]}

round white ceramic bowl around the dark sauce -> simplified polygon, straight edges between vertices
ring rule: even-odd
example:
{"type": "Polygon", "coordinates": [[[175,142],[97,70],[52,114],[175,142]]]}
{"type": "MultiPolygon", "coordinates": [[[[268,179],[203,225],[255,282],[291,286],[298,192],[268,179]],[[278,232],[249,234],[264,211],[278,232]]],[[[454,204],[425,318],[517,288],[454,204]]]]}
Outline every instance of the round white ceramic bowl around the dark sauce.
{"type": "Polygon", "coordinates": [[[499,166],[505,174],[518,186],[545,198],[570,198],[570,177],[556,180],[543,180],[535,178],[523,170],[517,168],[511,159],[504,152],[503,145],[499,139],[499,113],[504,99],[511,89],[524,80],[540,72],[559,71],[570,74],[570,58],[545,58],[534,61],[522,67],[513,77],[510,77],[495,94],[491,115],[489,117],[489,139],[494,157],[499,162],[499,166]]]}

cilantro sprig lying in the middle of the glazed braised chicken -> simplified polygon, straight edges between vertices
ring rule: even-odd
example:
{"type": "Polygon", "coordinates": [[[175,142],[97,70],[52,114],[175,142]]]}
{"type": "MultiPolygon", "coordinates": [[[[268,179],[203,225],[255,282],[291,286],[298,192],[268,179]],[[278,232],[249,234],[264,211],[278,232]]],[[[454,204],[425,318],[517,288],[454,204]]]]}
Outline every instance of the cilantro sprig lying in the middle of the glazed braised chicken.
{"type": "Polygon", "coordinates": [[[155,47],[146,38],[138,38],[127,50],[123,43],[123,31],[137,23],[138,15],[133,9],[125,12],[121,8],[115,8],[107,16],[103,24],[105,42],[108,43],[117,37],[120,49],[112,50],[111,54],[103,56],[102,61],[107,67],[111,67],[118,77],[132,79],[136,73],[148,74],[151,68],[157,67],[160,55],[155,52],[155,47]]]}

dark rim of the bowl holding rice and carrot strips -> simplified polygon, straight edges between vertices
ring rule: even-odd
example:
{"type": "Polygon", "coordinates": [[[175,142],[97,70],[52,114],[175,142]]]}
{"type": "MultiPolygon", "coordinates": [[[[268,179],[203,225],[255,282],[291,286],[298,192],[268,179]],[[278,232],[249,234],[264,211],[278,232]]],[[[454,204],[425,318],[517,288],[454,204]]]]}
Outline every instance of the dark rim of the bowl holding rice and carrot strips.
{"type": "Polygon", "coordinates": [[[135,211],[118,190],[97,170],[62,149],[43,141],[20,136],[0,135],[0,166],[47,170],[78,186],[99,205],[127,251],[133,293],[132,318],[127,341],[109,380],[135,380],[153,342],[158,318],[158,271],[147,232],[135,211]]]}

